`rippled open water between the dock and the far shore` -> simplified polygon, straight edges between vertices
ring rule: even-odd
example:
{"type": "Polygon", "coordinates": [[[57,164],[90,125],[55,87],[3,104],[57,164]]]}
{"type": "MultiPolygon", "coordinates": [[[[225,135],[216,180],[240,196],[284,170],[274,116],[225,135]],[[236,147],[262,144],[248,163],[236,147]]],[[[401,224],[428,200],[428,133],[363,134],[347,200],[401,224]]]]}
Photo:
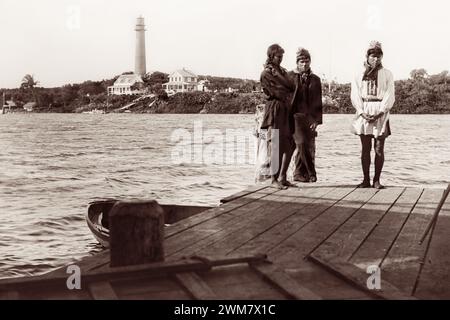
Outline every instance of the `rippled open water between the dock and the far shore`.
{"type": "MultiPolygon", "coordinates": [[[[316,156],[320,182],[360,182],[360,146],[358,137],[349,133],[351,119],[351,115],[324,116],[316,156]]],[[[173,154],[183,147],[171,135],[185,129],[184,137],[191,137],[194,121],[204,133],[219,130],[215,140],[204,138],[208,153],[226,141],[226,129],[251,128],[253,116],[1,116],[0,278],[40,274],[101,250],[84,221],[90,201],[151,198],[160,203],[217,205],[221,198],[253,184],[250,160],[173,162],[179,159],[173,154]]],[[[391,128],[382,182],[445,186],[450,180],[450,115],[393,115],[391,128]]],[[[245,141],[226,146],[238,155],[236,159],[253,152],[253,145],[245,141]]],[[[200,149],[194,149],[194,158],[199,160],[196,150],[200,149]]]]}

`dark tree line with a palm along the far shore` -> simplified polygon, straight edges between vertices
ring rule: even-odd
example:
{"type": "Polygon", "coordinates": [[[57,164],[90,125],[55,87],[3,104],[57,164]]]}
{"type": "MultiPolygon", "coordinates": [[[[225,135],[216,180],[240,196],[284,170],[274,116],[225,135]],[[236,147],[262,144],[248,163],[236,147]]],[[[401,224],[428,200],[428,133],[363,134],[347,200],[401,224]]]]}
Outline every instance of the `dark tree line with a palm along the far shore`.
{"type": "MultiPolygon", "coordinates": [[[[18,88],[0,91],[5,93],[6,100],[13,100],[19,108],[27,102],[36,102],[37,112],[80,112],[94,107],[114,109],[137,97],[107,95],[108,86],[113,85],[118,77],[43,88],[39,87],[33,75],[27,74],[18,88]]],[[[255,104],[263,101],[258,81],[214,76],[199,76],[199,79],[209,80],[208,88],[212,93],[208,94],[207,99],[204,94],[195,92],[179,93],[169,99],[162,89],[162,84],[168,81],[168,74],[158,71],[145,75],[144,83],[140,86],[166,102],[161,112],[176,110],[182,113],[183,110],[204,110],[212,106],[213,110],[220,110],[220,113],[251,112],[255,104]],[[228,88],[233,89],[232,95],[223,93],[228,88]]],[[[449,83],[448,71],[429,75],[424,69],[412,70],[409,79],[395,81],[396,102],[392,113],[450,113],[449,83]]],[[[354,112],[350,101],[350,84],[323,82],[322,90],[325,113],[354,112]]]]}

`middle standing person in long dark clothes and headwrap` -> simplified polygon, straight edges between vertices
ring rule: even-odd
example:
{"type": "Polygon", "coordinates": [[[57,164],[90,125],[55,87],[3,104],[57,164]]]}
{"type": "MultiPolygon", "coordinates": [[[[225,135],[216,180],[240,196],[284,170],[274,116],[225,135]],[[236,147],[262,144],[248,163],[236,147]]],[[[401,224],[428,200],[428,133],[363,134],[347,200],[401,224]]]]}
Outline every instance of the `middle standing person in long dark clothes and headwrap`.
{"type": "Polygon", "coordinates": [[[297,68],[289,73],[294,79],[292,109],[295,119],[294,180],[316,182],[316,128],[322,124],[322,84],[311,71],[311,55],[304,48],[297,50],[297,68]]]}

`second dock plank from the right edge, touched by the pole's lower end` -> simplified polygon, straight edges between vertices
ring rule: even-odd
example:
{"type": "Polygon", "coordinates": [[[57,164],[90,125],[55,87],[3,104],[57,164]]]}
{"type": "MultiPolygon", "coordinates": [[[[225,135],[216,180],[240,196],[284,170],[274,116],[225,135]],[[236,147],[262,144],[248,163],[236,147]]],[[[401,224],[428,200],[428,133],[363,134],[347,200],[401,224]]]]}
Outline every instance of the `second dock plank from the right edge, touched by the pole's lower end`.
{"type": "Polygon", "coordinates": [[[394,245],[381,263],[382,278],[410,295],[419,274],[430,234],[422,245],[419,244],[419,240],[442,194],[442,189],[424,190],[394,245]]]}

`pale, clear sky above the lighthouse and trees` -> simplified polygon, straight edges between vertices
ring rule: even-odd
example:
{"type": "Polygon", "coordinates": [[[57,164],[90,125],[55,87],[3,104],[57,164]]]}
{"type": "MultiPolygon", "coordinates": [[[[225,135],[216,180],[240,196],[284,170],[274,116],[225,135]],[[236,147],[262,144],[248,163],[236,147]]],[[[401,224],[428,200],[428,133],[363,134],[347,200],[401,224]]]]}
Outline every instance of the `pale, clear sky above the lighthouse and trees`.
{"type": "Polygon", "coordinates": [[[446,0],[0,0],[0,88],[33,74],[43,87],[134,70],[136,18],[147,25],[147,71],[259,79],[267,47],[298,47],[313,71],[350,82],[371,40],[396,79],[450,69],[446,0]]]}

